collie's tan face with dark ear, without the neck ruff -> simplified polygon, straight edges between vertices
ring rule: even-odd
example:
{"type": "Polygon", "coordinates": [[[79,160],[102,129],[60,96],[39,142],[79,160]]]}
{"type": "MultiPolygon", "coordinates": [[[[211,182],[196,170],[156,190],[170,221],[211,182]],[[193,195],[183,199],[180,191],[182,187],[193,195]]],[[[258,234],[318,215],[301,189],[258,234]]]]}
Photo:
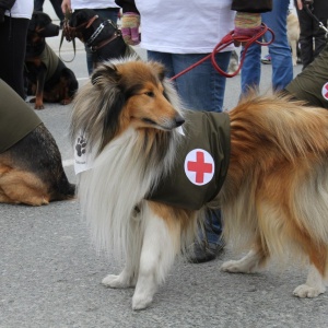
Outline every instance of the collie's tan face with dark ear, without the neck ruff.
{"type": "MultiPolygon", "coordinates": [[[[164,67],[157,62],[127,61],[103,66],[92,77],[94,84],[115,84],[119,110],[120,130],[155,128],[172,130],[184,124],[184,118],[169,99],[168,82],[164,79],[164,67]],[[168,92],[167,92],[168,91],[168,92]]],[[[172,89],[172,86],[169,86],[172,89]]]]}

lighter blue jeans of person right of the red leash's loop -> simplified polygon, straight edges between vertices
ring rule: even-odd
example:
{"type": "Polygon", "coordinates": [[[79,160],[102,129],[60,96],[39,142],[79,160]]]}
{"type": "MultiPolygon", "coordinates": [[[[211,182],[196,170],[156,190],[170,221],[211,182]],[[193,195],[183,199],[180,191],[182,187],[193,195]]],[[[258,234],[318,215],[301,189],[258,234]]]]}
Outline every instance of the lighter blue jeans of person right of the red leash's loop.
{"type": "MultiPolygon", "coordinates": [[[[284,89],[293,80],[291,48],[286,37],[289,0],[273,0],[273,10],[262,13],[262,22],[274,32],[274,42],[268,46],[272,63],[272,87],[284,89]]],[[[265,35],[270,40],[269,32],[265,35]]],[[[242,69],[242,94],[249,87],[258,89],[261,74],[261,46],[254,44],[248,50],[242,69]]]]}

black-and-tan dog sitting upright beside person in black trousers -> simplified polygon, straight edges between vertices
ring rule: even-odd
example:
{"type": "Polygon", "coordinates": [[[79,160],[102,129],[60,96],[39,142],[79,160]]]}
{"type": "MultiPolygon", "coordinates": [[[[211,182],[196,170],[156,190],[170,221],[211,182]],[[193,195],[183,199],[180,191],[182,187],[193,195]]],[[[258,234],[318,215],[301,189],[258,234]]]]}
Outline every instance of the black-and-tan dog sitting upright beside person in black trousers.
{"type": "Polygon", "coordinates": [[[26,42],[25,78],[27,95],[35,95],[35,109],[43,109],[44,102],[71,103],[79,87],[74,73],[47,45],[46,37],[59,34],[59,26],[44,12],[34,12],[26,42]]]}

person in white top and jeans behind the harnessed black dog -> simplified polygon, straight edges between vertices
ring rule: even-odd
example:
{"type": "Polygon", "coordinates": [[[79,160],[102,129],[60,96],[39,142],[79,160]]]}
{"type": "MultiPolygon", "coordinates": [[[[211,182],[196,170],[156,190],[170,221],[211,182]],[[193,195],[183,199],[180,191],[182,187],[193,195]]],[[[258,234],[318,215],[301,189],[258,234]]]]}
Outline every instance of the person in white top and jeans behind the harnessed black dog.
{"type": "MultiPolygon", "coordinates": [[[[115,24],[117,24],[119,7],[115,3],[114,0],[62,0],[61,2],[61,10],[63,13],[66,13],[67,11],[72,12],[81,9],[92,9],[103,20],[110,20],[115,24]]],[[[94,67],[93,54],[86,45],[85,51],[87,72],[89,74],[91,74],[94,67]]]]}

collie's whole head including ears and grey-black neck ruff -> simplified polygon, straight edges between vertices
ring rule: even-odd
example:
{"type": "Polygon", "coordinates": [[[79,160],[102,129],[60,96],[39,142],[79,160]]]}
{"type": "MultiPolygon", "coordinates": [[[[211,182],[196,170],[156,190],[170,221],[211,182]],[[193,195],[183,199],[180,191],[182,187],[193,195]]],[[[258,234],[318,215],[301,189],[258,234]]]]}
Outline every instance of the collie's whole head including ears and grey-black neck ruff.
{"type": "Polygon", "coordinates": [[[165,134],[185,119],[177,93],[157,62],[116,60],[99,66],[74,97],[71,137],[83,131],[102,150],[128,129],[165,134]]]}

